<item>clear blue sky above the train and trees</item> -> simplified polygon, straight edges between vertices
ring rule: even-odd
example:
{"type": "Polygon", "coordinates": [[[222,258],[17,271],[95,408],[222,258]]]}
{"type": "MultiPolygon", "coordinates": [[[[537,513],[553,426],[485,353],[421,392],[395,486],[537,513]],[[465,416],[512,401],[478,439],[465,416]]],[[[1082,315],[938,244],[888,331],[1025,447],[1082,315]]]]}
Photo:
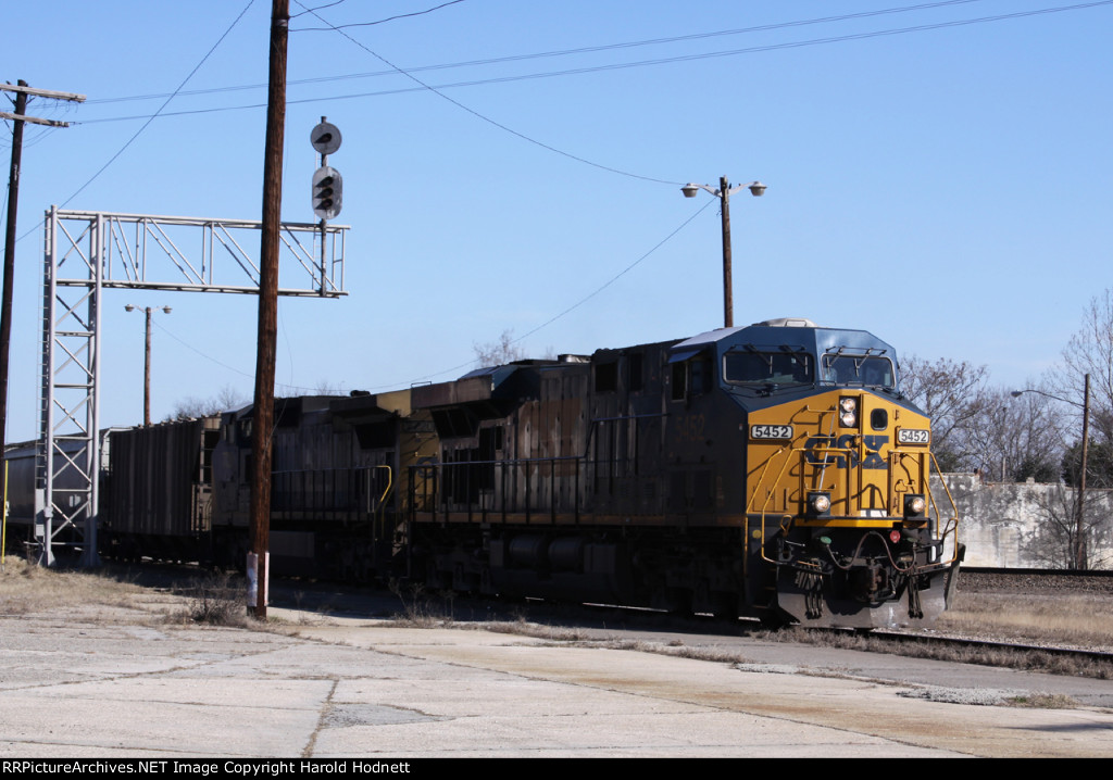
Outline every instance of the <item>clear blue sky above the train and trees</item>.
{"type": "MultiPolygon", "coordinates": [[[[590,353],[718,327],[718,204],[679,187],[722,175],[768,186],[731,199],[737,324],[864,328],[1015,386],[1057,363],[1110,286],[1113,4],[955,24],[1077,3],[462,0],[325,29],[442,1],[292,1],[283,217],[315,219],[308,132],[327,116],[344,132],[335,221],[352,229],[348,295],[279,303],[279,394],[453,378],[474,344],[593,293],[521,346],[590,353]],[[659,42],[614,46],[644,41],[659,42]],[[487,59],[503,61],[416,70],[487,59]],[[392,67],[481,83],[437,93],[392,67]]],[[[75,125],[27,129],[8,441],[38,430],[43,210],[260,216],[270,4],[183,8],[7,9],[19,34],[0,79],[88,96],[29,108],[75,125]],[[89,182],[195,68],[184,90],[199,93],[89,182]],[[161,97],[114,100],[135,96],[161,97]]],[[[0,135],[7,159],[10,126],[0,135]]],[[[125,304],[174,307],[156,316],[154,417],[224,387],[250,397],[254,297],[105,300],[102,426],[142,417],[142,318],[125,304]]]]}

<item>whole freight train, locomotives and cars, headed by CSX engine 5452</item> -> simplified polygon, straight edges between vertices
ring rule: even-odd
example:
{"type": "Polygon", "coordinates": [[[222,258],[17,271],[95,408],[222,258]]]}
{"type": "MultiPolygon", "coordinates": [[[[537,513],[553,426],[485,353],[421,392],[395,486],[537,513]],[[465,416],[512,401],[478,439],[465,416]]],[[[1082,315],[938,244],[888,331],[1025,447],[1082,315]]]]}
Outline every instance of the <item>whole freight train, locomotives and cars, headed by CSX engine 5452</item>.
{"type": "MultiPolygon", "coordinates": [[[[279,399],[272,569],[770,624],[926,624],[963,547],[897,371],[866,332],[779,319],[279,399]]],[[[205,516],[178,537],[203,555],[247,549],[252,417],[186,433],[203,465],[181,478],[208,478],[211,501],[180,493],[183,514],[205,516]]],[[[142,512],[112,511],[136,506],[117,452],[135,458],[112,442],[100,537],[156,549],[142,512]]]]}

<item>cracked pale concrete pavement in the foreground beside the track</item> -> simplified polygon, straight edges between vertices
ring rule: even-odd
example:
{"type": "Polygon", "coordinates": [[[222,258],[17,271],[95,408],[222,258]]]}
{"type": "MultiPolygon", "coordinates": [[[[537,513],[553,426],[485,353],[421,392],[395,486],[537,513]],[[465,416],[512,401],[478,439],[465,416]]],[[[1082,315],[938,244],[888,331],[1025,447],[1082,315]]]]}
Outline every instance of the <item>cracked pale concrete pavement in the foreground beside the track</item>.
{"type": "MultiPolygon", "coordinates": [[[[816,661],[816,649],[768,645],[743,671],[483,630],[275,616],[284,631],[173,625],[131,608],[0,615],[0,757],[1113,757],[1110,709],[906,698],[915,685],[820,668],[938,662],[816,661]]],[[[1074,682],[1113,695],[1113,683],[1074,682]]]]}

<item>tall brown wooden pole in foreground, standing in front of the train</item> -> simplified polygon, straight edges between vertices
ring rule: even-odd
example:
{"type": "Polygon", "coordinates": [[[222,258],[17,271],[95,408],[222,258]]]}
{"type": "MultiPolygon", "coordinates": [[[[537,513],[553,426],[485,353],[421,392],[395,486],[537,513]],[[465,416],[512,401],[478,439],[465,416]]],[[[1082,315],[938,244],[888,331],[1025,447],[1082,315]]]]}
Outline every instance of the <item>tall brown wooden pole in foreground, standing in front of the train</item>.
{"type": "MultiPolygon", "coordinates": [[[[255,605],[267,618],[267,551],[270,546],[270,453],[275,404],[275,344],[278,332],[278,250],[282,226],[282,152],[286,125],[286,42],[289,0],[272,0],[267,89],[267,136],[263,161],[263,238],[259,249],[259,320],[255,356],[255,405],[252,419],[252,554],[255,556],[255,605]]],[[[250,569],[250,566],[249,566],[250,569]]],[[[250,571],[248,572],[250,579],[250,571]]]]}

